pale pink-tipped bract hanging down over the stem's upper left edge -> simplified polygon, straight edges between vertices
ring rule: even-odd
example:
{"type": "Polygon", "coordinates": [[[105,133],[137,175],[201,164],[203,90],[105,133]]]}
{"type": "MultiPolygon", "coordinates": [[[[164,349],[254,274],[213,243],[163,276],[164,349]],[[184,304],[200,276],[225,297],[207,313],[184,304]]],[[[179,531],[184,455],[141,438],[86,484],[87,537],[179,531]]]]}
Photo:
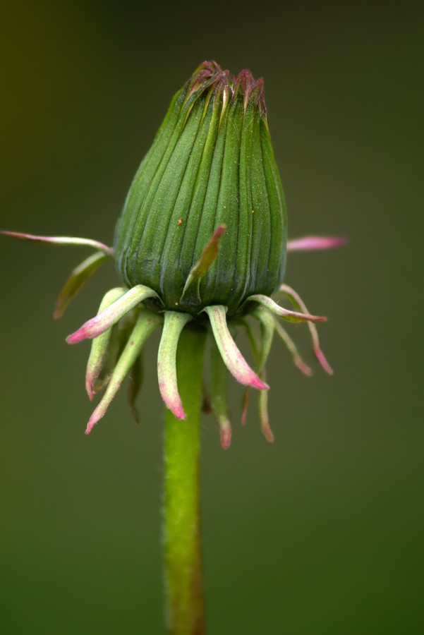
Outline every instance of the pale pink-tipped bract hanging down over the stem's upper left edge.
{"type": "Polygon", "coordinates": [[[177,419],[185,419],[186,413],[178,393],[176,349],[181,331],[191,319],[192,317],[188,313],[165,311],[164,329],[157,353],[159,391],[166,408],[173,412],[177,419]]]}

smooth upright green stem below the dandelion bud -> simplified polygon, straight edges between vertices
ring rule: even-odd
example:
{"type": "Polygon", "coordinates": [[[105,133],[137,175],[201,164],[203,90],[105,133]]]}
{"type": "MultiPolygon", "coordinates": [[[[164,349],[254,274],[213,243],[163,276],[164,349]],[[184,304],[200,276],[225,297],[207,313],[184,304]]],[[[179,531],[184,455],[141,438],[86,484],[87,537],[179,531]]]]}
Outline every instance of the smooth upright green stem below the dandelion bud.
{"type": "Polygon", "coordinates": [[[176,358],[187,418],[166,411],[164,550],[166,622],[171,635],[205,634],[200,538],[200,410],[206,331],[186,327],[176,358]]]}

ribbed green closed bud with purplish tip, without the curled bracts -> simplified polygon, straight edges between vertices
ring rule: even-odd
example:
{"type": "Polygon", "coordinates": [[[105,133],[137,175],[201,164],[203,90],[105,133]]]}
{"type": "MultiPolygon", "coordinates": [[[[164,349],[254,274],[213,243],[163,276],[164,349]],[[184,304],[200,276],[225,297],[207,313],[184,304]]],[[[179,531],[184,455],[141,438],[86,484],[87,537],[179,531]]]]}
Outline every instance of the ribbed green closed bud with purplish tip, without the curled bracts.
{"type": "MultiPolygon", "coordinates": [[[[263,80],[204,62],[171,102],[135,174],[114,240],[116,270],[160,310],[246,313],[284,275],[286,209],[269,138],[263,80]],[[185,285],[217,228],[219,253],[198,293],[185,285]]],[[[202,314],[203,317],[205,314],[202,314]]]]}

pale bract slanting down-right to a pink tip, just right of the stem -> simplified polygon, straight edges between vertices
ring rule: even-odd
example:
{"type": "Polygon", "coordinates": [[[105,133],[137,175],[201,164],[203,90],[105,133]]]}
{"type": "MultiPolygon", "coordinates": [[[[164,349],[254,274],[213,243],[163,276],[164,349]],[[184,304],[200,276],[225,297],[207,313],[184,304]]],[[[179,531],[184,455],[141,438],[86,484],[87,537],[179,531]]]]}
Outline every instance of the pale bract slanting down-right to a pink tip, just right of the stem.
{"type": "Polygon", "coordinates": [[[262,382],[258,375],[250,368],[246,359],[238,350],[236,342],[231,337],[226,324],[226,308],[221,305],[207,306],[205,307],[205,311],[207,315],[209,315],[214,338],[224,364],[234,379],[245,386],[252,386],[260,390],[268,389],[269,386],[262,382]]]}

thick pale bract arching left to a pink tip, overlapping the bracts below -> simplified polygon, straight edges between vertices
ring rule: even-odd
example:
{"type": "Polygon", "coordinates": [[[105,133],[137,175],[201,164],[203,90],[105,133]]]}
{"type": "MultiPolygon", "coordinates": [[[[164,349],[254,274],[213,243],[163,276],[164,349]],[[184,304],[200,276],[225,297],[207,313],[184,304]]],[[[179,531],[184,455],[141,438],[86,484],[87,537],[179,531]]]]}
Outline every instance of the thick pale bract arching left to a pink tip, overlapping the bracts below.
{"type": "MultiPolygon", "coordinates": [[[[123,290],[126,291],[126,289],[123,290]]],[[[66,341],[68,344],[78,344],[78,342],[83,339],[98,337],[112,325],[116,324],[118,320],[121,320],[123,315],[128,313],[128,311],[137,306],[140,302],[147,300],[147,298],[154,297],[157,297],[156,292],[149,289],[148,286],[144,286],[143,284],[133,286],[133,289],[126,291],[126,294],[111,304],[109,308],[85,322],[75,333],[68,335],[66,341]]]]}

